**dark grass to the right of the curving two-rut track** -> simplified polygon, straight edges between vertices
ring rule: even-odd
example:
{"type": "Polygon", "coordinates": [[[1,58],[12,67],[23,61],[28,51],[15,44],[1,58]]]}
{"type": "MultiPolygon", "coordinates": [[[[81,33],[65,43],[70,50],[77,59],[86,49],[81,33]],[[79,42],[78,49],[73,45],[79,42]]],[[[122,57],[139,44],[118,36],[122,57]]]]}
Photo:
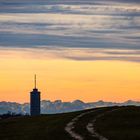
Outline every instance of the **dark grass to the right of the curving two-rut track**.
{"type": "Polygon", "coordinates": [[[99,118],[95,126],[109,140],[139,140],[140,107],[122,107],[99,118]]]}

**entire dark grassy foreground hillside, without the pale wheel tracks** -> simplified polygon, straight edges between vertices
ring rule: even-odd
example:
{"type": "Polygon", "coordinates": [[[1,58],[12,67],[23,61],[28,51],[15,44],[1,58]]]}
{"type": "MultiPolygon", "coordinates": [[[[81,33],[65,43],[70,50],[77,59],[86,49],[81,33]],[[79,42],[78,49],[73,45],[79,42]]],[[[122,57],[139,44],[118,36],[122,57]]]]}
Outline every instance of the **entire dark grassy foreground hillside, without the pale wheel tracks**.
{"type": "Polygon", "coordinates": [[[109,140],[140,139],[140,107],[108,107],[0,120],[0,140],[73,140],[65,127],[77,116],[72,131],[83,140],[98,140],[87,130],[95,119],[95,130],[109,140]]]}

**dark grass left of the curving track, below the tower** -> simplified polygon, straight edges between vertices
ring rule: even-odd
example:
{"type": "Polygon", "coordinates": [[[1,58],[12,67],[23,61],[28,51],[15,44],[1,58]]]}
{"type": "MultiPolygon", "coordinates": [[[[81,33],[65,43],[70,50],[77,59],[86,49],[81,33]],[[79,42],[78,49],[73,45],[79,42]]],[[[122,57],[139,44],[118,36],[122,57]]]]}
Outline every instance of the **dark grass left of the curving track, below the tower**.
{"type": "Polygon", "coordinates": [[[38,117],[20,117],[0,121],[0,140],[71,139],[64,127],[80,112],[38,117]]]}

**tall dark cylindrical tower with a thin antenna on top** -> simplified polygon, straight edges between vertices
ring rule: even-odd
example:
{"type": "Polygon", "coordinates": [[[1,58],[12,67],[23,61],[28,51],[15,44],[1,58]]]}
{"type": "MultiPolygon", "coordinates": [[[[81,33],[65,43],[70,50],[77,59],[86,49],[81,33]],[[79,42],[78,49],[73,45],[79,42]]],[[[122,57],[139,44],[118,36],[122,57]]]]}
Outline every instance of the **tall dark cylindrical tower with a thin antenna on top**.
{"type": "Polygon", "coordinates": [[[36,88],[36,75],[34,77],[35,87],[30,92],[30,114],[31,116],[40,115],[40,91],[36,88]]]}

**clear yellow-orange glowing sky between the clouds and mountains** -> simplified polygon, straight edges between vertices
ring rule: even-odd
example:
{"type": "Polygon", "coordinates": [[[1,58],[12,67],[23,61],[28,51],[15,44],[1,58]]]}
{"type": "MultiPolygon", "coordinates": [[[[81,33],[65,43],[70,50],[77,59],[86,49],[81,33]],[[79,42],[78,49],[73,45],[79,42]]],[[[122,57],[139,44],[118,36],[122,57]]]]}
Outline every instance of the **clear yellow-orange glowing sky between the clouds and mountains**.
{"type": "Polygon", "coordinates": [[[139,63],[23,56],[0,58],[0,101],[29,102],[35,73],[42,100],[140,100],[139,63]]]}

